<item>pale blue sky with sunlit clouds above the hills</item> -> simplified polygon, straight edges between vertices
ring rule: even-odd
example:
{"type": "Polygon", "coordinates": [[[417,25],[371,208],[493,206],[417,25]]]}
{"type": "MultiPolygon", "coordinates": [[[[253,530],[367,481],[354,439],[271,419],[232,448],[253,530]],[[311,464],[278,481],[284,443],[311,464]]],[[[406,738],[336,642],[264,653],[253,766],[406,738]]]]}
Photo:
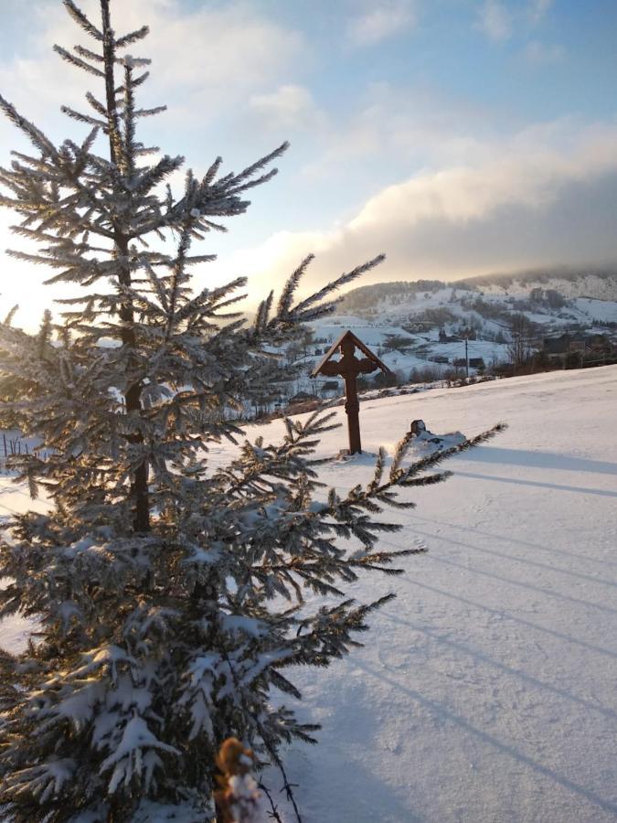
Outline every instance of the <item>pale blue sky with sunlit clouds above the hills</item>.
{"type": "MultiPolygon", "coordinates": [[[[93,16],[97,3],[84,0],[93,16]]],[[[148,23],[147,135],[197,171],[284,139],[281,175],[207,245],[200,281],[251,299],[308,251],[309,284],[373,256],[373,281],[617,259],[614,0],[112,0],[148,23]]],[[[0,91],[54,137],[88,79],[51,53],[79,33],[59,0],[3,0],[0,91]],[[26,9],[26,11],[24,11],[26,9]],[[84,80],[86,81],[84,84],[84,80]]],[[[96,80],[95,80],[96,82],[96,80]]],[[[77,127],[79,129],[79,127],[77,127]]],[[[0,162],[19,146],[0,124],[0,162]]],[[[0,246],[16,244],[0,218],[0,246]]],[[[35,314],[42,274],[3,259],[3,305],[35,314]]],[[[55,293],[54,293],[55,294],[55,293]]]]}

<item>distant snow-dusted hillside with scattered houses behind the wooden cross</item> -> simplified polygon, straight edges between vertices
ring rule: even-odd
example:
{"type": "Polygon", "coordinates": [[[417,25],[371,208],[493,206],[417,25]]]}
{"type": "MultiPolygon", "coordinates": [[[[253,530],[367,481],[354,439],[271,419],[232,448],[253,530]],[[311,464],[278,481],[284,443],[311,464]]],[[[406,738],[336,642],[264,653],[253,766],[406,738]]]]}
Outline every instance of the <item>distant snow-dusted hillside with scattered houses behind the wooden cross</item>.
{"type": "MultiPolygon", "coordinates": [[[[375,283],[346,294],[339,311],[312,326],[314,343],[299,362],[306,375],[347,328],[373,347],[399,383],[471,375],[511,362],[523,315],[528,350],[564,334],[576,350],[601,347],[617,356],[617,272],[521,273],[460,283],[375,283]],[[469,358],[469,369],[467,369],[469,358]],[[424,376],[422,376],[424,374],[424,376]]],[[[564,351],[569,344],[564,344],[564,351]]],[[[604,356],[603,354],[601,355],[604,356]]],[[[322,381],[323,382],[323,381],[322,381]]],[[[342,384],[341,384],[342,385],[342,384]]],[[[295,390],[319,390],[301,379],[295,390]]],[[[339,386],[339,389],[341,386],[339,386]]]]}

